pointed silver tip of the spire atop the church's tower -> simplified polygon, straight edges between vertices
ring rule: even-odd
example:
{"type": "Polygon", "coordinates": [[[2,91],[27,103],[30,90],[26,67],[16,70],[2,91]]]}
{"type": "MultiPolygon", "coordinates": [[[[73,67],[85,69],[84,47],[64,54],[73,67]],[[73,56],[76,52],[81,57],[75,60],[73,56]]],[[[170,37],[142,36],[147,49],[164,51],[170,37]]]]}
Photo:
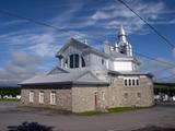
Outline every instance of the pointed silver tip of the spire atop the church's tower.
{"type": "Polygon", "coordinates": [[[120,24],[120,26],[119,26],[118,43],[127,43],[126,32],[122,27],[122,24],[120,24]]]}

